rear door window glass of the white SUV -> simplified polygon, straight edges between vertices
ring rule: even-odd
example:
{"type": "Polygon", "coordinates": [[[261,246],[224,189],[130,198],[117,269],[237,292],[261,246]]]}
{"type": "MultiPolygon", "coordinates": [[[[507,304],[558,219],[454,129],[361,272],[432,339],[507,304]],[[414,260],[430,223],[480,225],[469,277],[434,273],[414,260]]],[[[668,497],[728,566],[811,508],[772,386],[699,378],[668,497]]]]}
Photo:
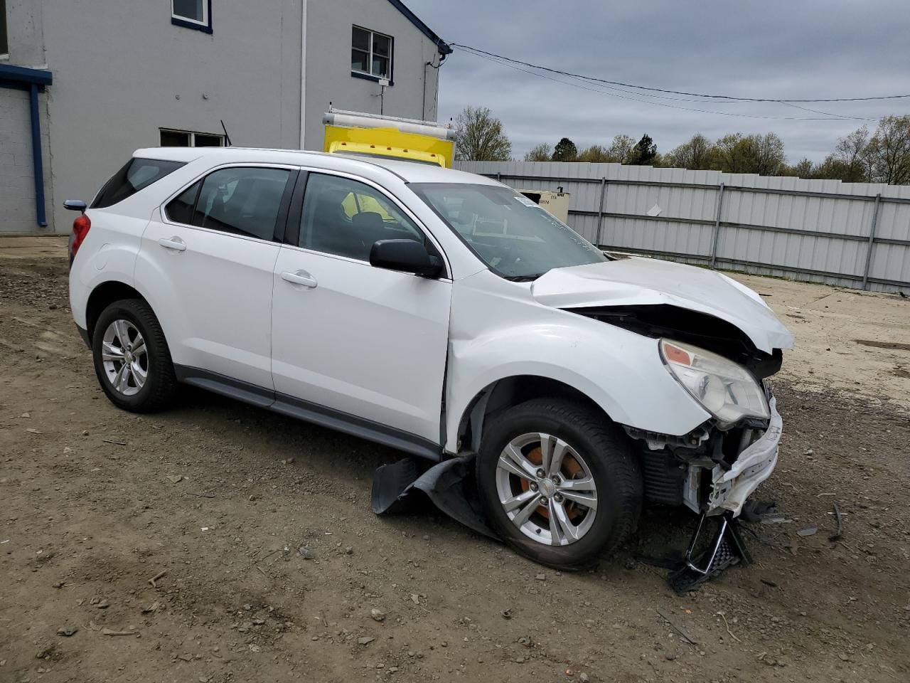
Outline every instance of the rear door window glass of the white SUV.
{"type": "MultiPolygon", "coordinates": [[[[289,176],[290,171],[283,168],[222,168],[209,174],[195,200],[192,225],[272,240],[289,176]]],[[[170,219],[187,215],[192,189],[167,205],[170,219]]]]}

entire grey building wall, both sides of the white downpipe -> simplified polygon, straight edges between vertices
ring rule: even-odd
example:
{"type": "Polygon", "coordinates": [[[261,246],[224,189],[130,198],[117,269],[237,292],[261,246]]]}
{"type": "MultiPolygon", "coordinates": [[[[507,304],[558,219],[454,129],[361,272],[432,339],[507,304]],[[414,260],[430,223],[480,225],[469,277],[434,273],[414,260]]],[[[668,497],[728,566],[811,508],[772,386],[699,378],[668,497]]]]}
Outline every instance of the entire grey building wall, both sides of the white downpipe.
{"type": "MultiPolygon", "coordinates": [[[[211,35],[171,24],[169,0],[7,0],[9,63],[54,76],[40,96],[48,230],[68,231],[63,200],[90,201],[134,150],[157,147],[162,127],[220,134],[224,119],[234,145],[300,148],[304,4],[307,148],[322,148],[329,101],[379,112],[379,85],[350,75],[353,24],[395,38],[383,111],[436,117],[438,71],[425,64],[439,63],[437,47],[382,0],[216,0],[211,35]]],[[[34,233],[23,95],[0,88],[0,178],[11,178],[0,198],[15,202],[0,230],[34,233]]]]}

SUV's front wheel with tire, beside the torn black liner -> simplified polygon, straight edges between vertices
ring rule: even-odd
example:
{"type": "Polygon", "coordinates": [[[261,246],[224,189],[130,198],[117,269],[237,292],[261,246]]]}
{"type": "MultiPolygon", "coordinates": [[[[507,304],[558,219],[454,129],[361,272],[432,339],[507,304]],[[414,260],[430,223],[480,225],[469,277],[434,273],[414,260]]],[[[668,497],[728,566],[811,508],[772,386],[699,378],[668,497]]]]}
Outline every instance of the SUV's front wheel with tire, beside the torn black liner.
{"type": "Polygon", "coordinates": [[[642,470],[628,438],[602,413],[561,399],[535,399],[492,418],[480,443],[477,482],[501,538],[556,569],[595,565],[632,533],[642,510],[642,470]],[[516,451],[525,463],[510,455],[516,451]],[[551,469],[540,477],[548,456],[551,469]],[[530,502],[519,505],[520,497],[530,502]],[[509,504],[517,506],[507,510],[509,504]]]}

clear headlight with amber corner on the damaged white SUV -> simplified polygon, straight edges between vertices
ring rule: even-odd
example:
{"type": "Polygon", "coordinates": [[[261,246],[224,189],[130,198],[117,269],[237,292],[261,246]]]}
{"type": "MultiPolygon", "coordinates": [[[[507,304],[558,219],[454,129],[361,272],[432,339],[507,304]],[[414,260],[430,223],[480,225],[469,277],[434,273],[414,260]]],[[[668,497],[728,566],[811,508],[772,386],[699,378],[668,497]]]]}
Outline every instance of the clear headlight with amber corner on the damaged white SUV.
{"type": "Polygon", "coordinates": [[[660,347],[667,370],[719,423],[771,417],[761,384],[742,365],[680,342],[662,339],[660,347]]]}

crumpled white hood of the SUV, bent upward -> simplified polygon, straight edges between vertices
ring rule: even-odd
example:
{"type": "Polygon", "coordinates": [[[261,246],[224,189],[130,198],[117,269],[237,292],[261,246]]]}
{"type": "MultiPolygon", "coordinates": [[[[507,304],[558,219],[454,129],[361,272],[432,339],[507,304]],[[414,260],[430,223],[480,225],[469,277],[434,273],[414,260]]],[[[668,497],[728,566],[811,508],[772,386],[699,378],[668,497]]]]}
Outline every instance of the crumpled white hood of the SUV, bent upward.
{"type": "Polygon", "coordinates": [[[755,292],[716,270],[667,260],[631,258],[556,268],[531,285],[553,308],[665,304],[720,318],[771,353],[793,348],[793,335],[755,292]]]}

